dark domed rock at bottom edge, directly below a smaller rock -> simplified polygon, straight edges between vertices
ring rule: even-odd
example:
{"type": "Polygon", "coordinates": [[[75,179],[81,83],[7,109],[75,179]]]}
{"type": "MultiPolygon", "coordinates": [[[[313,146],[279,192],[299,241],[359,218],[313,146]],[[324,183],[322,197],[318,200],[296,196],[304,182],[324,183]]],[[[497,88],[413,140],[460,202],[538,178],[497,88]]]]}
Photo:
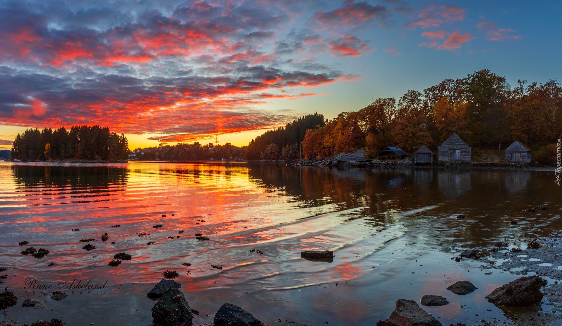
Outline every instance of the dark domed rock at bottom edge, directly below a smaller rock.
{"type": "Polygon", "coordinates": [[[153,326],[187,326],[192,324],[193,314],[182,291],[167,289],[152,307],[153,326]]]}

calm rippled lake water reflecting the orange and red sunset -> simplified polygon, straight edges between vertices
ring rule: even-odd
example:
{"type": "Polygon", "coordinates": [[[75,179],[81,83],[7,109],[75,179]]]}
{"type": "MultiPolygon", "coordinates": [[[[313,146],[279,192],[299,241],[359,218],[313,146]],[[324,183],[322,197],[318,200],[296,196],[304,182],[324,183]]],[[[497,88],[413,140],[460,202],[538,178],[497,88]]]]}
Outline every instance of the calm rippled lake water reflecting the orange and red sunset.
{"type": "Polygon", "coordinates": [[[562,209],[561,188],[548,171],[0,162],[0,184],[0,268],[9,275],[2,286],[17,291],[18,304],[8,311],[20,323],[58,318],[146,326],[154,304],[146,293],[165,270],[180,274],[175,280],[200,311],[194,324],[210,322],[230,302],[270,326],[288,325],[285,320],[373,325],[388,318],[398,298],[419,302],[427,294],[451,302],[424,307],[443,324],[474,324],[475,313],[478,321],[504,320],[484,296],[516,276],[485,275],[490,270],[479,268],[482,261],[451,257],[504,237],[513,243],[549,236],[560,229],[562,209]],[[538,203],[549,210],[524,211],[538,203]],[[102,242],[105,232],[109,239],[102,242]],[[199,241],[195,233],[210,239],[199,241]],[[89,243],[97,248],[83,250],[85,238],[96,239],[89,243]],[[43,259],[19,254],[29,246],[50,253],[43,259]],[[336,257],[312,262],[300,258],[302,250],[333,250],[336,257]],[[118,252],[133,259],[108,266],[118,252]],[[107,286],[67,290],[69,297],[54,301],[25,289],[29,278],[53,287],[74,279],[107,286]],[[461,279],[478,290],[466,296],[446,290],[461,279]],[[21,307],[39,296],[45,309],[21,307]]]}

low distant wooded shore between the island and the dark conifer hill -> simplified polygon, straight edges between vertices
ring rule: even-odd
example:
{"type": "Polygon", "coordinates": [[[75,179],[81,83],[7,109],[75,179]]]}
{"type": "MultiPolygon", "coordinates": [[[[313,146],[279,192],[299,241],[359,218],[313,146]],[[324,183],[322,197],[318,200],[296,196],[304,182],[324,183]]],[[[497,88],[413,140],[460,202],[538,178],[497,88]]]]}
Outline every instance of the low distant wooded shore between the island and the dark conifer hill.
{"type": "Polygon", "coordinates": [[[232,146],[230,143],[215,145],[200,143],[175,145],[160,144],[158,147],[135,148],[131,155],[132,160],[142,161],[207,161],[222,160],[234,161],[244,159],[246,156],[246,146],[232,146]]]}

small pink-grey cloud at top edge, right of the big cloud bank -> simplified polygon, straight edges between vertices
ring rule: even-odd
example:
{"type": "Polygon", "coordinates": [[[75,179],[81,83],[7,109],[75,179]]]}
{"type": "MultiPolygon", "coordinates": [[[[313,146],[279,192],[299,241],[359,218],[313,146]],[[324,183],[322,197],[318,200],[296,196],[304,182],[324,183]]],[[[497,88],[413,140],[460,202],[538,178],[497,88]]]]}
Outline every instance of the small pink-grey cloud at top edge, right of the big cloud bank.
{"type": "Polygon", "coordinates": [[[380,22],[387,19],[388,11],[384,6],[371,6],[366,2],[348,0],[341,8],[328,12],[318,12],[312,16],[312,21],[323,28],[343,29],[354,28],[364,22],[377,18],[380,22]]]}

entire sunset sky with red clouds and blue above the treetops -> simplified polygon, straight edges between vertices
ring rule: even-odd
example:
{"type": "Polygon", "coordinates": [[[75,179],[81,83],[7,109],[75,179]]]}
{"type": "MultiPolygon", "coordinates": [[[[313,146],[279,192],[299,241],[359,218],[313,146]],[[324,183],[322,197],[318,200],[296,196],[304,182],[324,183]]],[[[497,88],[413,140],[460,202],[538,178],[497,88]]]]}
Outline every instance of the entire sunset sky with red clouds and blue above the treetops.
{"type": "Polygon", "coordinates": [[[108,126],[130,148],[243,146],[481,69],[561,76],[560,1],[2,1],[0,149],[108,126]]]}

